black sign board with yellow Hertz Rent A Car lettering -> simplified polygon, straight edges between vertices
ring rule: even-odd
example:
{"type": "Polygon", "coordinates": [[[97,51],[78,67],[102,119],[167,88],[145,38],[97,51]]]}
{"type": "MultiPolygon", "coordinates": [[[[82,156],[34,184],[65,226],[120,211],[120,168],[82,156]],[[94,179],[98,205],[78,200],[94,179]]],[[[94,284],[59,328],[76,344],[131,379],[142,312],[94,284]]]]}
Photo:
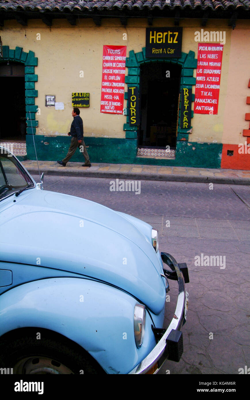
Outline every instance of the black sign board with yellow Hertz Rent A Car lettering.
{"type": "Polygon", "coordinates": [[[146,28],[147,58],[176,58],[182,56],[182,28],[146,28]]]}

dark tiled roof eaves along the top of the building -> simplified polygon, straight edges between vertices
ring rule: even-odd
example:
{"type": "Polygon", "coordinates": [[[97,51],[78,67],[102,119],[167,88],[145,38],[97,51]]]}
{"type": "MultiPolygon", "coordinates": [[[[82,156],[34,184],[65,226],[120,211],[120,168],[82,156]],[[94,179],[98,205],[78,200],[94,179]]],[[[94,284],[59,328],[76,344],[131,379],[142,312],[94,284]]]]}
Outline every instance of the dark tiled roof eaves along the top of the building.
{"type": "MultiPolygon", "coordinates": [[[[75,18],[248,19],[250,0],[0,0],[1,20],[75,18]]],[[[48,22],[47,21],[47,22],[48,22]]],[[[46,22],[45,22],[46,23],[46,22]]]]}

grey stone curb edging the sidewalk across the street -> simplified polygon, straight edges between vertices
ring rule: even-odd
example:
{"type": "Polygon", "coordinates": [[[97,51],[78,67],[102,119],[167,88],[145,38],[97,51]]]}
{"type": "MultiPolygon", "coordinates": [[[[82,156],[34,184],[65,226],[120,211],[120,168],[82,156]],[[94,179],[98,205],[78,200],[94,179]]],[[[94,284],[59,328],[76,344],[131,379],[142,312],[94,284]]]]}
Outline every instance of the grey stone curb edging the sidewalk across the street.
{"type": "MultiPolygon", "coordinates": [[[[25,166],[30,174],[38,174],[37,168],[29,168],[25,166]]],[[[229,177],[208,177],[208,176],[186,176],[186,175],[165,175],[165,174],[151,174],[146,172],[112,172],[112,171],[93,171],[85,170],[65,170],[61,168],[42,168],[40,172],[44,175],[55,176],[83,176],[85,178],[112,178],[112,179],[132,179],[132,180],[154,180],[165,182],[197,182],[197,183],[217,183],[217,184],[231,184],[231,185],[250,185],[250,178],[229,178],[229,177]]]]}

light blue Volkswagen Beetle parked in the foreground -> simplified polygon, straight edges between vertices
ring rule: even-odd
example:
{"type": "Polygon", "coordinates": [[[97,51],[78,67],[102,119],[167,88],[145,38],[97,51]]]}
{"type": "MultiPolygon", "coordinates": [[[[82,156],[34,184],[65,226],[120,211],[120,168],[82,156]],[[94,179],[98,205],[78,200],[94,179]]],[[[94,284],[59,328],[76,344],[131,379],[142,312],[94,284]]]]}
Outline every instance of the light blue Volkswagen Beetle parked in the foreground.
{"type": "Polygon", "coordinates": [[[149,224],[42,189],[0,148],[1,371],[154,374],[179,361],[186,264],[160,254],[149,224]],[[179,292],[163,329],[168,279],[179,292]]]}

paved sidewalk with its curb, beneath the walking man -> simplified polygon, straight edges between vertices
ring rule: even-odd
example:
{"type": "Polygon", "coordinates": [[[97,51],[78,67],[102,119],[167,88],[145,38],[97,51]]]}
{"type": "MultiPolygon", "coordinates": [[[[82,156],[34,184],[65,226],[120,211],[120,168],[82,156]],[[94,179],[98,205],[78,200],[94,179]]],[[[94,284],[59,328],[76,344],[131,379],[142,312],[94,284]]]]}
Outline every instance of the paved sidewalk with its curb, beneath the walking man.
{"type": "MultiPolygon", "coordinates": [[[[242,170],[95,163],[91,167],[82,167],[80,162],[68,162],[63,167],[54,161],[38,163],[40,172],[45,175],[250,185],[250,171],[242,170]]],[[[22,164],[30,174],[38,173],[36,161],[26,160],[22,164]]]]}

